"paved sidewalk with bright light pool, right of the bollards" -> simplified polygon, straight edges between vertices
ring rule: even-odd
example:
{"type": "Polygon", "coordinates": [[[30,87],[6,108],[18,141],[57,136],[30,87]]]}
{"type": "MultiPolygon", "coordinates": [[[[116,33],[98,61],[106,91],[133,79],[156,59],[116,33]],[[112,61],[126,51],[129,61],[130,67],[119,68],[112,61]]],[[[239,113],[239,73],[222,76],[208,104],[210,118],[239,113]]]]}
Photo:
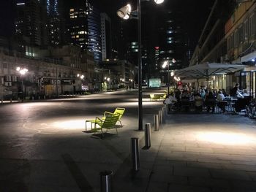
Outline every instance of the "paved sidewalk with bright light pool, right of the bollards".
{"type": "Polygon", "coordinates": [[[141,169],[116,172],[116,191],[256,191],[255,122],[238,115],[169,115],[140,150],[141,169]]]}

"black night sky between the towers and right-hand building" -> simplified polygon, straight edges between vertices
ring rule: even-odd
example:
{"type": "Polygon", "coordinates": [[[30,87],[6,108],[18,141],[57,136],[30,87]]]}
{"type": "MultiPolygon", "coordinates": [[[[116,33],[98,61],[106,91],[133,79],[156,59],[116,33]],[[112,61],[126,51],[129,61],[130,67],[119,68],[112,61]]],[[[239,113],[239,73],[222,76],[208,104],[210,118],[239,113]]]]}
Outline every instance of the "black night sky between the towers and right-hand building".
{"type": "MultiPolygon", "coordinates": [[[[153,1],[153,0],[151,0],[153,1]]],[[[94,4],[102,11],[108,13],[110,18],[113,20],[113,26],[118,23],[118,16],[116,11],[118,8],[130,3],[137,8],[137,1],[127,0],[93,0],[94,4]]],[[[141,9],[143,14],[143,7],[149,2],[141,2],[141,9]]],[[[211,12],[211,6],[214,4],[214,0],[165,0],[161,5],[152,4],[154,10],[157,11],[157,6],[164,7],[165,9],[172,9],[174,11],[182,12],[187,28],[186,33],[189,36],[192,47],[195,47],[197,40],[200,37],[203,26],[206,23],[209,13],[211,12]]],[[[160,9],[159,9],[160,10],[160,9]]]]}

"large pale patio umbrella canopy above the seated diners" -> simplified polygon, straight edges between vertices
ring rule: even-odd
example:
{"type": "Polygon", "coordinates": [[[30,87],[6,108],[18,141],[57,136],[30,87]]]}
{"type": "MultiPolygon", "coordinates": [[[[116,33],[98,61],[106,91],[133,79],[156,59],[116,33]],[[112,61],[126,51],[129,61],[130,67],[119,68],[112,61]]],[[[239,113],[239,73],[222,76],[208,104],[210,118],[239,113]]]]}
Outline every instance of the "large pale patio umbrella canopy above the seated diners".
{"type": "Polygon", "coordinates": [[[198,64],[195,66],[188,66],[184,69],[180,69],[176,72],[178,77],[189,77],[189,78],[206,78],[218,75],[218,74],[228,74],[240,71],[244,69],[245,66],[237,64],[218,64],[218,63],[205,63],[198,64]]]}

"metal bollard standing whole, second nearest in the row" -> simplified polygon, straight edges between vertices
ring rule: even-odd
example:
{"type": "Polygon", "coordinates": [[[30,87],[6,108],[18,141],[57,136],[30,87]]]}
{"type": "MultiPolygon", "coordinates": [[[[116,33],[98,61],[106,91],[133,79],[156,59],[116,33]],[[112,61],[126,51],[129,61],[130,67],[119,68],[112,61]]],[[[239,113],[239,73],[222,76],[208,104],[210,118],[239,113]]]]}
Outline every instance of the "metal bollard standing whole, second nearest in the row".
{"type": "Polygon", "coordinates": [[[139,139],[137,137],[131,138],[132,150],[132,170],[138,172],[140,169],[140,153],[139,153],[139,139]]]}

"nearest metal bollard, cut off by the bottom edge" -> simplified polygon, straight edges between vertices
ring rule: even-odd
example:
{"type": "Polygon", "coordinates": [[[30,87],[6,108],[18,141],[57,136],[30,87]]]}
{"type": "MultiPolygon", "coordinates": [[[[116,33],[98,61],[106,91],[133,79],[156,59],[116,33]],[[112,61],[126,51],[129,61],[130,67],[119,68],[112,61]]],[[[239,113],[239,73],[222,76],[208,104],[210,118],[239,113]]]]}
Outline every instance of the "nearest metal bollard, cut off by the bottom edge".
{"type": "Polygon", "coordinates": [[[100,172],[100,192],[113,191],[112,171],[100,172]]]}

